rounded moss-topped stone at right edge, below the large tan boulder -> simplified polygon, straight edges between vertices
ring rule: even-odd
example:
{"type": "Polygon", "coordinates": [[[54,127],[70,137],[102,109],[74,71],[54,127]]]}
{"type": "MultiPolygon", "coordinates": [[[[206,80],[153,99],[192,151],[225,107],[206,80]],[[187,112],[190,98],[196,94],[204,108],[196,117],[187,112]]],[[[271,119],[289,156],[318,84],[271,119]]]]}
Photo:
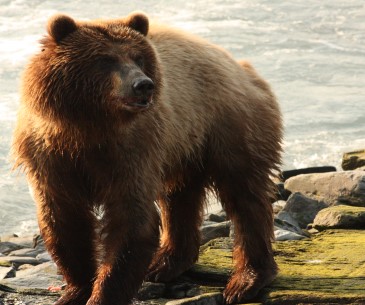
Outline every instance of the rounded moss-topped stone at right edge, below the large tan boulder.
{"type": "Polygon", "coordinates": [[[313,222],[318,230],[365,229],[365,208],[338,205],[320,211],[313,222]]]}

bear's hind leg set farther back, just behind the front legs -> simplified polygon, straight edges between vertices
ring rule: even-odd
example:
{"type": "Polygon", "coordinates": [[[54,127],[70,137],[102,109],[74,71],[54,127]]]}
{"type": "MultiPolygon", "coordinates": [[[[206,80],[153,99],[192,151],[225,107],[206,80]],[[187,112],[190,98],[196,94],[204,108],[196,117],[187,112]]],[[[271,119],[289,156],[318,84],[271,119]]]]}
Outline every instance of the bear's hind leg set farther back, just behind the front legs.
{"type": "Polygon", "coordinates": [[[204,177],[191,175],[181,188],[159,200],[162,236],[147,280],[168,282],[198,259],[204,187],[204,177]]]}

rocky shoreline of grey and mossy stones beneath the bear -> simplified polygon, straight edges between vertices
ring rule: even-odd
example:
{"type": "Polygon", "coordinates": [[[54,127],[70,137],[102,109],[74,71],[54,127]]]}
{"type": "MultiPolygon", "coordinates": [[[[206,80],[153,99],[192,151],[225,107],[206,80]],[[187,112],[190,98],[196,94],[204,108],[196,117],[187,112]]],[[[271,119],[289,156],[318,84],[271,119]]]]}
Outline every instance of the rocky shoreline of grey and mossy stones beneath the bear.
{"type": "MultiPolygon", "coordinates": [[[[364,156],[345,154],[344,171],[283,173],[273,203],[280,273],[251,304],[365,304],[364,156]]],[[[135,303],[223,304],[231,222],[224,212],[209,214],[201,231],[195,266],[172,283],[144,283],[135,303]]],[[[64,285],[39,235],[1,237],[0,305],[53,304],[64,285]]]]}

